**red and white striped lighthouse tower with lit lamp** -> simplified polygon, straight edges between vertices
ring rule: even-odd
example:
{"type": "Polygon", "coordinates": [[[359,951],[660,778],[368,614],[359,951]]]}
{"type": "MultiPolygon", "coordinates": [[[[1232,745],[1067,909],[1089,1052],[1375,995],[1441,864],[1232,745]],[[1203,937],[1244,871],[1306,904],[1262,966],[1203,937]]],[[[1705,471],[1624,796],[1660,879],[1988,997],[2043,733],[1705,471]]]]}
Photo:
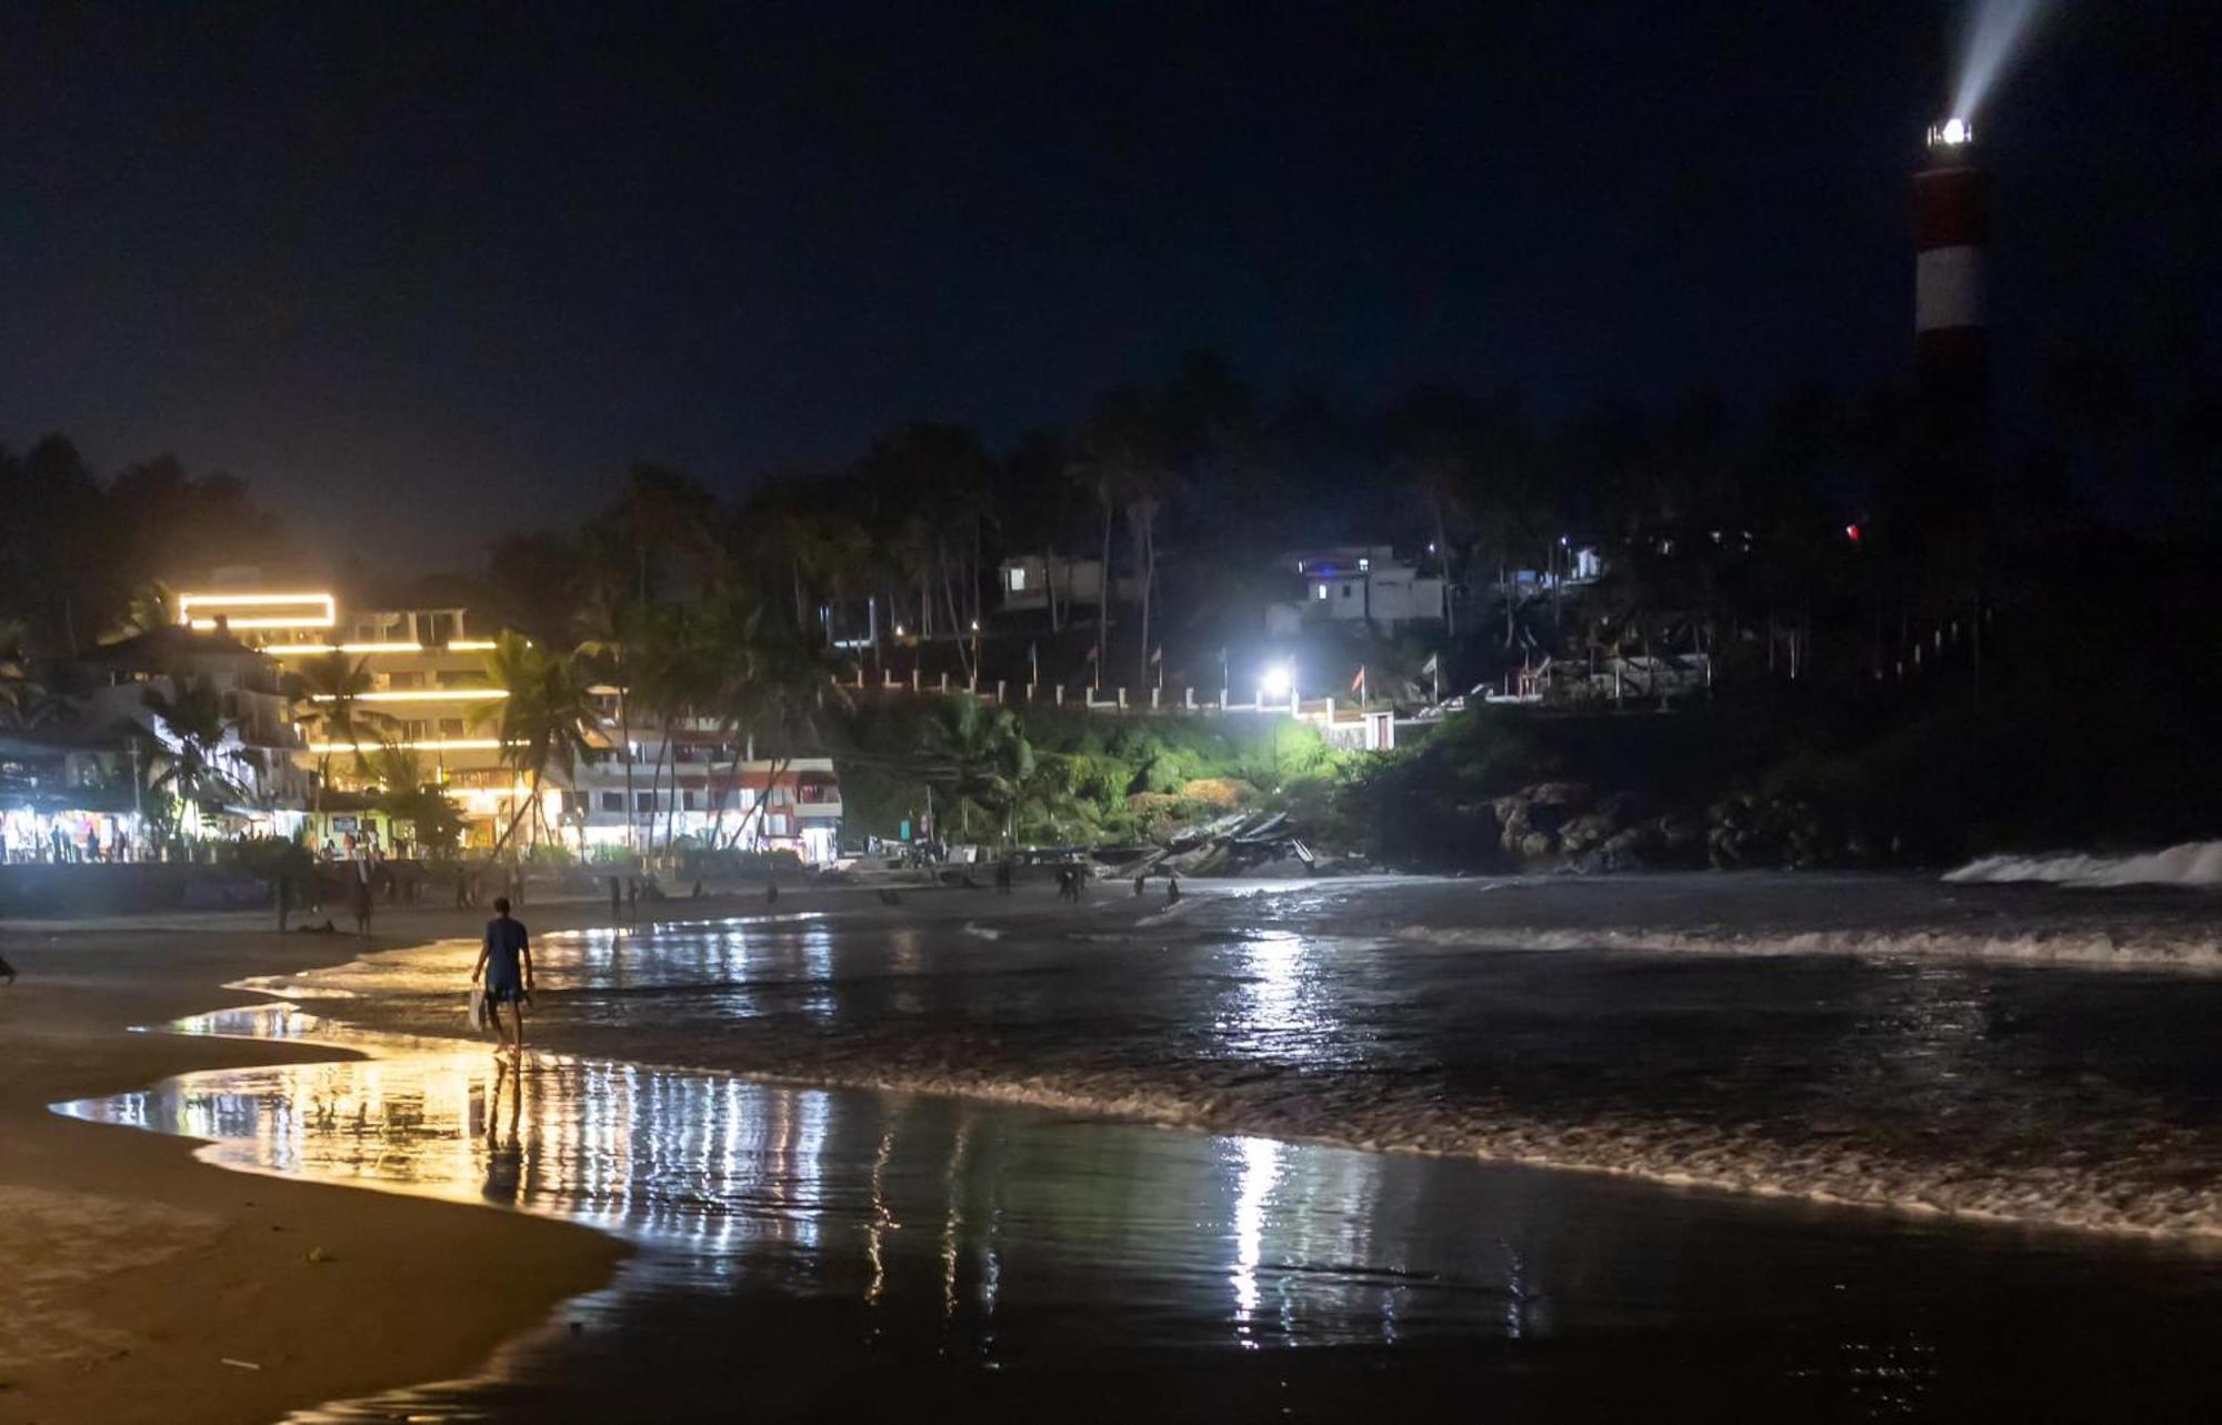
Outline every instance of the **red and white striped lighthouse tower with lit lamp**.
{"type": "Polygon", "coordinates": [[[1929,129],[1929,166],[1913,175],[1913,371],[1931,408],[1980,417],[1989,388],[1982,280],[1991,242],[1991,175],[1975,129],[1929,129]]]}

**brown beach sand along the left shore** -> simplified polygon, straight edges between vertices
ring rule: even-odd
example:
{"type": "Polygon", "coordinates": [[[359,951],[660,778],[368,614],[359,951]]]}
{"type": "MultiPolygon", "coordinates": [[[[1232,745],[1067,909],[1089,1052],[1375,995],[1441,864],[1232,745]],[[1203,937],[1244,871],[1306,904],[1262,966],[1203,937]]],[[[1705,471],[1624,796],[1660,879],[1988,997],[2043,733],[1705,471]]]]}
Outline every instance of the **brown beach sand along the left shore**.
{"type": "MultiPolygon", "coordinates": [[[[662,912],[720,908],[762,903],[662,912]]],[[[607,923],[609,908],[524,917],[553,930],[607,923]]],[[[476,937],[482,921],[427,908],[382,912],[376,937],[278,934],[247,914],[0,932],[20,972],[0,988],[0,1421],[267,1421],[469,1374],[609,1279],[624,1247],[584,1227],[242,1176],[196,1161],[191,1141],[49,1112],[193,1068],[331,1059],[129,1028],[249,1003],[222,990],[247,974],[476,937]]]]}

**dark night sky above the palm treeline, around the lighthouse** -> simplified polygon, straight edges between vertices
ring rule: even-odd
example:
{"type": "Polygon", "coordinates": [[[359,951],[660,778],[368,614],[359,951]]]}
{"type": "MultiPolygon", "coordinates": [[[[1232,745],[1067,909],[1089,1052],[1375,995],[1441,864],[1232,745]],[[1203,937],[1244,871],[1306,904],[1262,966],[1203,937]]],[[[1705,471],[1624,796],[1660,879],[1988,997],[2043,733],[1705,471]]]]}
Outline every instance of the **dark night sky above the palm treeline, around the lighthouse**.
{"type": "MultiPolygon", "coordinates": [[[[2222,7],[2060,11],[1982,115],[2009,353],[2213,302],[2222,7]]],[[[422,566],[633,459],[1004,439],[1195,344],[1360,400],[1871,384],[1958,16],[9,7],[0,439],[176,451],[422,566]]]]}

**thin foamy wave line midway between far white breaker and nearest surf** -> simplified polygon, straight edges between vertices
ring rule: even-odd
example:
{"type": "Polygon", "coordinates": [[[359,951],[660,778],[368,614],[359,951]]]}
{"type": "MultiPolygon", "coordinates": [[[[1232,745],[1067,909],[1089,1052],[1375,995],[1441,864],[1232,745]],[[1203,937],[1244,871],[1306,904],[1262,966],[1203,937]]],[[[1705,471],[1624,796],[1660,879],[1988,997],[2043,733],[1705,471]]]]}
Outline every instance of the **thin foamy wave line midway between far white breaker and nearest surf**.
{"type": "Polygon", "coordinates": [[[1953,959],[2078,970],[2222,972],[2222,941],[2171,930],[1564,930],[1520,926],[1395,926],[1393,939],[1453,950],[1633,950],[1653,954],[1855,954],[1871,959],[1953,959]]]}

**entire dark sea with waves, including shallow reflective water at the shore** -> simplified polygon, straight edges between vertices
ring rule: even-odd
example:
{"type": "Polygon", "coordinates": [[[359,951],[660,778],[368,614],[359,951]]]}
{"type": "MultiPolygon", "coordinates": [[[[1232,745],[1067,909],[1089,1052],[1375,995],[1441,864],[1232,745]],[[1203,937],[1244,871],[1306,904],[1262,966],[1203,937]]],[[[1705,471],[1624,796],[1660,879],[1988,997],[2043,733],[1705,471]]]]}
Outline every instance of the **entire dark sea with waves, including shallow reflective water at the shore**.
{"type": "MultiPolygon", "coordinates": [[[[2089,875],[827,897],[238,986],[60,1105],[635,1243],[302,1421],[2213,1418],[2222,899],[2089,875]]],[[[2089,868],[2084,868],[2089,872],[2089,868]]]]}

